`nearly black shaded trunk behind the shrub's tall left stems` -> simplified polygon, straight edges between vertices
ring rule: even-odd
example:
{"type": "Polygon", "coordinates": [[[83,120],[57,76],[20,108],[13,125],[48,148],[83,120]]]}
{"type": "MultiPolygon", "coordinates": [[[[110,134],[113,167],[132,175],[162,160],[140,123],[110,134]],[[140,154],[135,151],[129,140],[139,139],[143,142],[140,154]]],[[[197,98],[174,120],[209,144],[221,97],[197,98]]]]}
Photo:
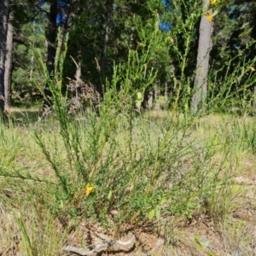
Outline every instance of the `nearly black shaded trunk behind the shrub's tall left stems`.
{"type": "MultiPolygon", "coordinates": [[[[55,73],[55,54],[56,54],[56,37],[57,37],[57,14],[58,14],[58,5],[57,0],[53,0],[50,2],[49,7],[49,25],[48,31],[46,33],[46,39],[48,43],[47,47],[47,61],[46,67],[48,73],[51,77],[54,77],[55,73]]],[[[46,99],[44,100],[44,107],[50,107],[52,105],[51,93],[49,91],[49,84],[46,84],[44,89],[44,96],[46,99]]]]}

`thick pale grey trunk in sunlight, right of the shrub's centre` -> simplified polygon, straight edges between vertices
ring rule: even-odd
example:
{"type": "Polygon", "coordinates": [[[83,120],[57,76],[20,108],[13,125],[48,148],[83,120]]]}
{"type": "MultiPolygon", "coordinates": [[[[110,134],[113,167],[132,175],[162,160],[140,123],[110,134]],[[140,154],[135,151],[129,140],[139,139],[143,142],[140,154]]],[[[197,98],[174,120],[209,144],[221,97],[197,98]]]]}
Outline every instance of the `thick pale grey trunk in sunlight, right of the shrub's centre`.
{"type": "MultiPolygon", "coordinates": [[[[209,9],[210,0],[203,1],[203,12],[209,9]]],[[[209,10],[211,13],[211,10],[209,10]]],[[[200,108],[204,109],[207,98],[207,74],[209,69],[210,51],[212,49],[212,22],[207,20],[207,16],[201,17],[199,43],[196,60],[194,94],[192,96],[191,108],[196,113],[200,108]]]]}

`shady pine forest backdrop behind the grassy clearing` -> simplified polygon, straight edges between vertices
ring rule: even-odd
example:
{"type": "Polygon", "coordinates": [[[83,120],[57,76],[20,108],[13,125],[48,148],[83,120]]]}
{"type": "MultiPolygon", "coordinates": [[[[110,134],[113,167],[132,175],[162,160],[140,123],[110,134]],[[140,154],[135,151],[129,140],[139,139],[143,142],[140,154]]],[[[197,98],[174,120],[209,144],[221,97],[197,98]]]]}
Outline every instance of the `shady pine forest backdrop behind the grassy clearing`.
{"type": "MultiPolygon", "coordinates": [[[[0,95],[4,96],[5,90],[6,108],[10,101],[14,106],[30,106],[42,99],[40,92],[47,83],[40,74],[35,55],[41,55],[48,72],[54,75],[60,62],[55,59],[59,29],[60,50],[63,50],[67,33],[69,37],[62,78],[65,84],[68,84],[67,78],[82,79],[94,84],[103,95],[106,81],[113,78],[114,63],[125,63],[129,49],[137,50],[138,54],[145,51],[149,44],[145,42],[149,40],[148,34],[157,29],[160,30],[158,41],[154,40],[149,49],[152,59],[144,63],[147,65],[145,77],[130,78],[133,90],[141,88],[144,92],[148,72],[153,68],[155,78],[147,90],[154,90],[154,97],[165,96],[167,107],[178,104],[181,108],[189,108],[198,90],[195,70],[203,65],[207,69],[207,79],[206,74],[201,76],[205,77],[204,94],[208,98],[225,97],[232,91],[233,96],[243,97],[250,104],[253,94],[249,96],[249,92],[254,91],[256,31],[253,1],[211,3],[203,10],[201,1],[3,1],[0,95]],[[199,45],[202,12],[209,23],[204,32],[210,31],[208,38],[212,36],[208,46],[199,45]],[[210,54],[207,64],[197,61],[203,50],[210,54]],[[230,74],[234,79],[227,84],[230,74]]],[[[201,60],[205,58],[202,55],[201,60]]],[[[3,99],[1,101],[3,109],[3,99]]],[[[195,108],[193,104],[192,108],[195,108]]]]}

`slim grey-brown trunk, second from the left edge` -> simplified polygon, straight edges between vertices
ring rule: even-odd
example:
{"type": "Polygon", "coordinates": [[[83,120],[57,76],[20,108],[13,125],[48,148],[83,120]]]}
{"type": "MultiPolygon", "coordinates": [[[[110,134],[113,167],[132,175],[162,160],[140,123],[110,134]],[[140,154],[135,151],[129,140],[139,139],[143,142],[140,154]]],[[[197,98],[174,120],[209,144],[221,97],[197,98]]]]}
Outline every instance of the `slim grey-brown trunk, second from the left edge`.
{"type": "Polygon", "coordinates": [[[14,43],[14,27],[12,25],[13,12],[9,13],[8,32],[6,38],[6,57],[5,57],[5,71],[4,71],[4,95],[5,95],[5,110],[9,112],[10,109],[10,90],[12,79],[12,64],[13,64],[13,43],[14,43]]]}

